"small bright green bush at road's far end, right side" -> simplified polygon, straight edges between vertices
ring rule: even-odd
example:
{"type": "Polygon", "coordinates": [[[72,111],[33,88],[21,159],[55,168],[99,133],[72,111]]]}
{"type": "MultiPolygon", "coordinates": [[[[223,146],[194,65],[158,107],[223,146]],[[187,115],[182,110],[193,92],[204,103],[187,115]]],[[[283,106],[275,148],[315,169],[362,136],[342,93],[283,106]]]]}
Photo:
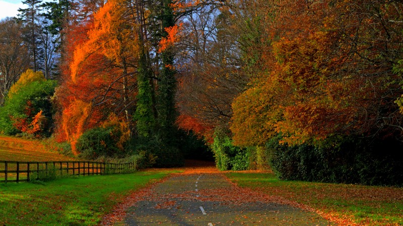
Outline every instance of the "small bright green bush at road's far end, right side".
{"type": "Polygon", "coordinates": [[[232,144],[226,130],[216,129],[212,150],[219,170],[246,170],[249,168],[249,151],[232,144]]]}

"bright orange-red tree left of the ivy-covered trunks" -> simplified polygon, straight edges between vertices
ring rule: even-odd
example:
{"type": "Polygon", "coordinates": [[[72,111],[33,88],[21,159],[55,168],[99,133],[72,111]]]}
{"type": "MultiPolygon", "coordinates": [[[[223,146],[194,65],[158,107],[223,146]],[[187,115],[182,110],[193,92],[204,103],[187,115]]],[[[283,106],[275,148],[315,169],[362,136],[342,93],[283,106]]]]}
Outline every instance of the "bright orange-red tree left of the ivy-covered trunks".
{"type": "Polygon", "coordinates": [[[56,91],[59,106],[58,141],[74,144],[89,128],[115,113],[131,120],[136,102],[138,35],[125,1],[111,0],[66,34],[63,82],[56,91]],[[79,124],[73,123],[72,118],[79,124]]]}

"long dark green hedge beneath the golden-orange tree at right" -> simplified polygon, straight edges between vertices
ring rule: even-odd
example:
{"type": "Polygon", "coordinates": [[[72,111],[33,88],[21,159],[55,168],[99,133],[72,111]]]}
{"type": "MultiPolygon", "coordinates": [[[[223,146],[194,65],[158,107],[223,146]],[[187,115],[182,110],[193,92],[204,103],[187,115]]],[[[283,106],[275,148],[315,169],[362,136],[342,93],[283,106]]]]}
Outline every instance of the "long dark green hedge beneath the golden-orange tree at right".
{"type": "Polygon", "coordinates": [[[328,138],[318,146],[267,143],[270,165],[280,179],[365,185],[403,185],[403,144],[391,137],[328,138]]]}

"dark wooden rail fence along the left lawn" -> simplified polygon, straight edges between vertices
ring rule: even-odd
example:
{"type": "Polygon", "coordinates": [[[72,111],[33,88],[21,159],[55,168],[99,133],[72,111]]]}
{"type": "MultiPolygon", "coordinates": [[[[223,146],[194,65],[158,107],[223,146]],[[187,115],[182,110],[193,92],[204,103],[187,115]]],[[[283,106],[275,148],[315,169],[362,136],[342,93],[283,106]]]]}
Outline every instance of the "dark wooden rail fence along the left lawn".
{"type": "Polygon", "coordinates": [[[103,163],[88,161],[16,162],[0,161],[0,183],[23,182],[40,175],[103,175],[135,170],[135,163],[103,163]]]}

